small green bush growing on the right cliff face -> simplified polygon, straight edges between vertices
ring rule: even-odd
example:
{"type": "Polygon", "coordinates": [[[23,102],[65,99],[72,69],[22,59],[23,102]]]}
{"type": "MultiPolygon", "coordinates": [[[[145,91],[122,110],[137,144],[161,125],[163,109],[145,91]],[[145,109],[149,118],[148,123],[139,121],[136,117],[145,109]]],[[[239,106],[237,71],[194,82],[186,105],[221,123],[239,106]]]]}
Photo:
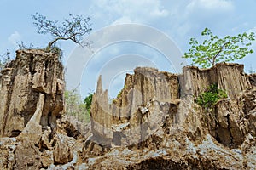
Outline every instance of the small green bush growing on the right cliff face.
{"type": "Polygon", "coordinates": [[[196,99],[196,103],[203,109],[212,110],[212,107],[218,102],[218,99],[227,98],[228,95],[222,89],[218,89],[218,84],[213,83],[205,92],[201,93],[196,99]]]}

